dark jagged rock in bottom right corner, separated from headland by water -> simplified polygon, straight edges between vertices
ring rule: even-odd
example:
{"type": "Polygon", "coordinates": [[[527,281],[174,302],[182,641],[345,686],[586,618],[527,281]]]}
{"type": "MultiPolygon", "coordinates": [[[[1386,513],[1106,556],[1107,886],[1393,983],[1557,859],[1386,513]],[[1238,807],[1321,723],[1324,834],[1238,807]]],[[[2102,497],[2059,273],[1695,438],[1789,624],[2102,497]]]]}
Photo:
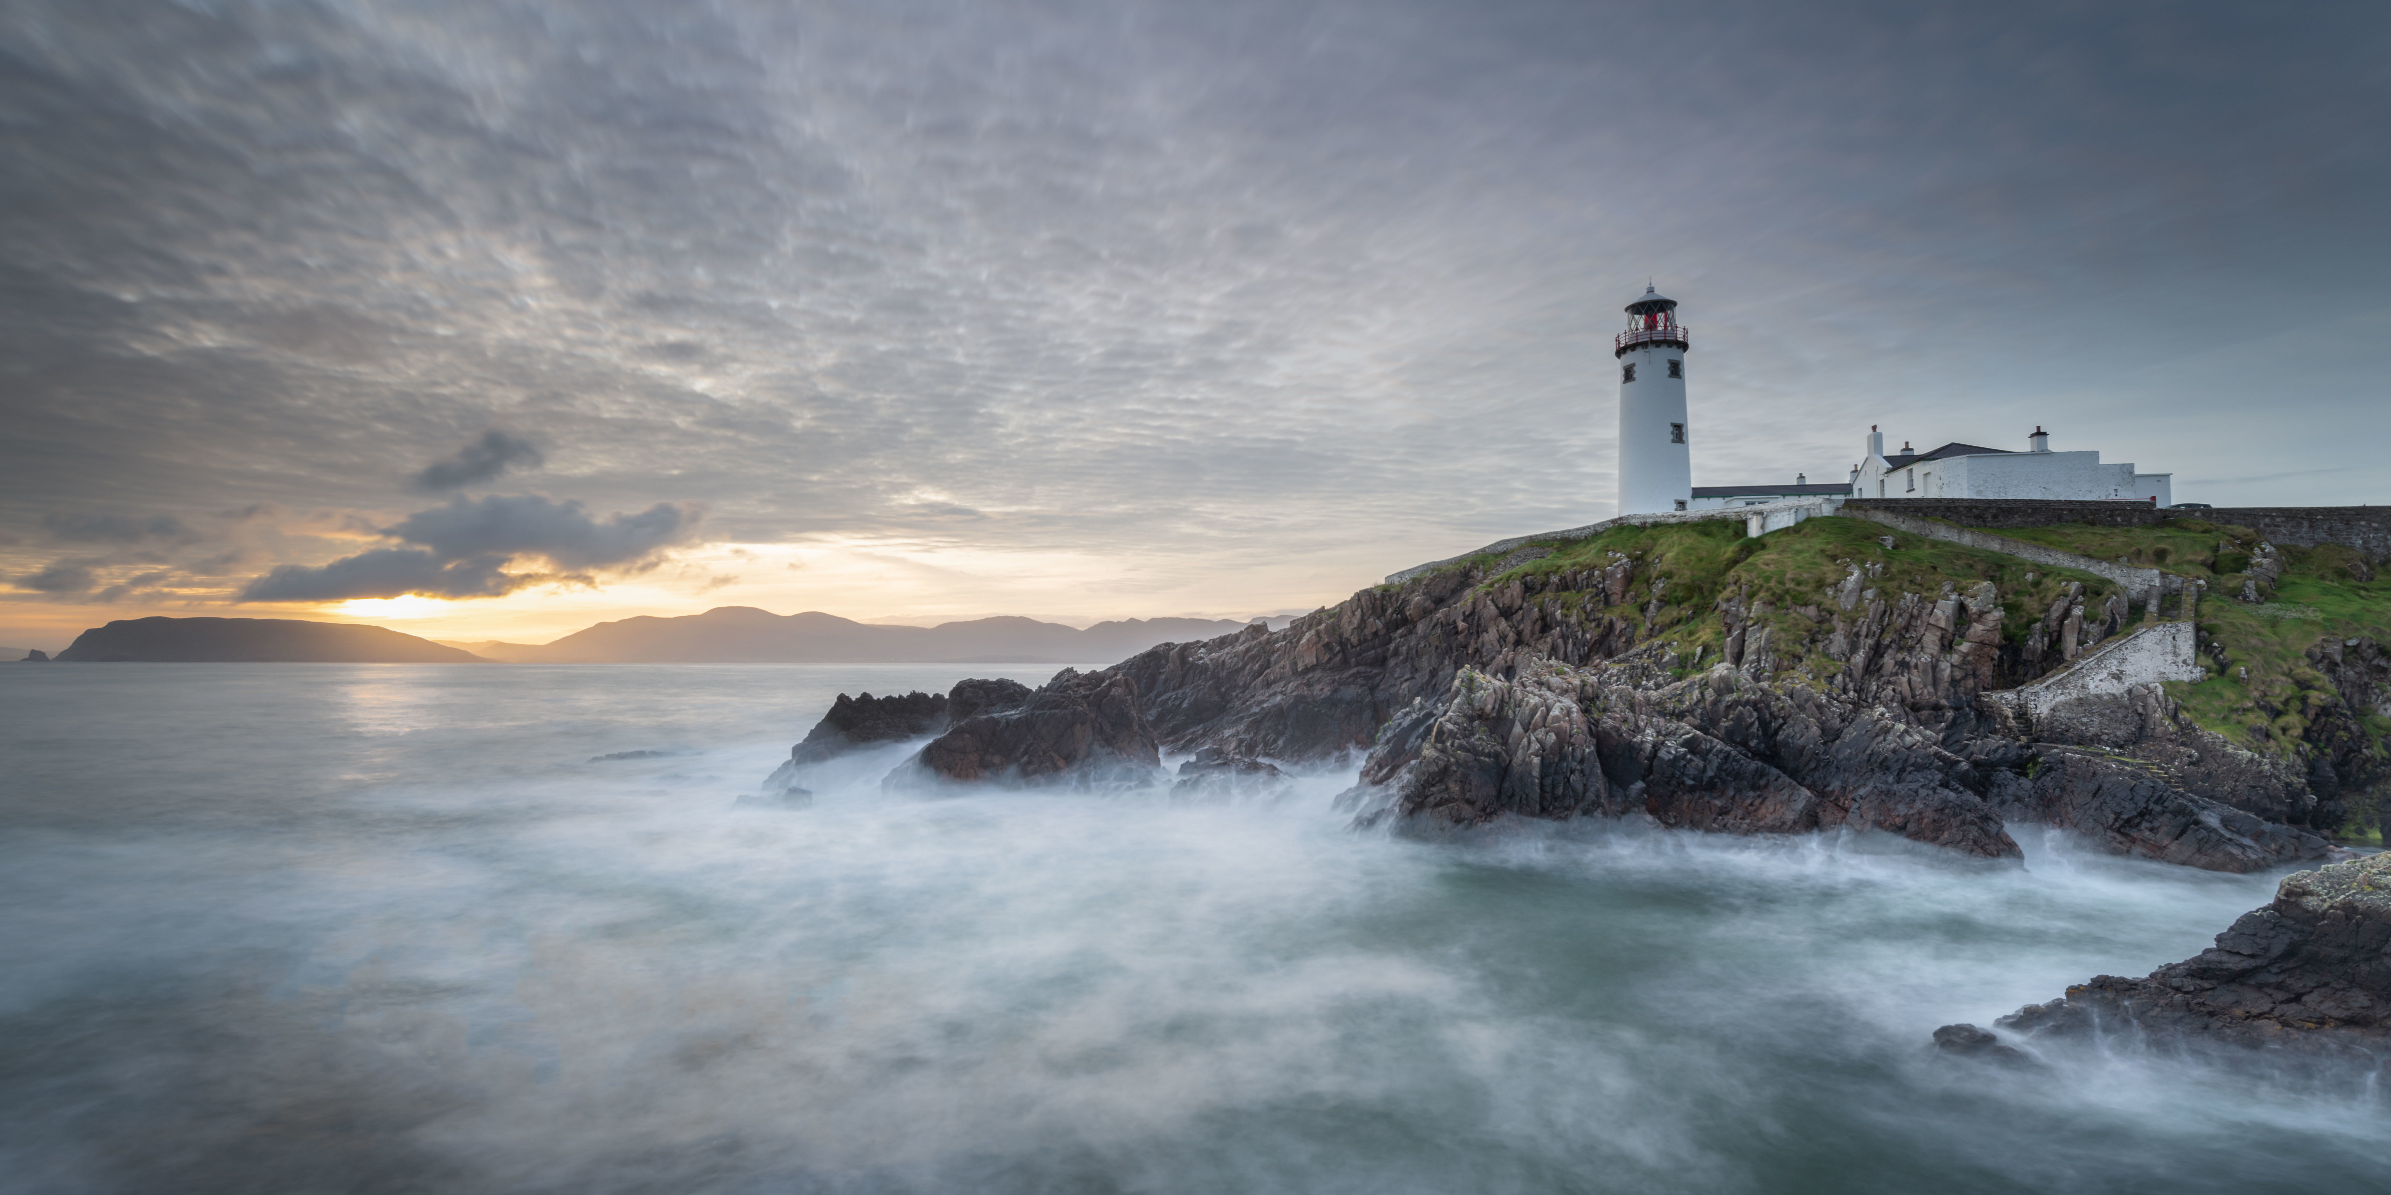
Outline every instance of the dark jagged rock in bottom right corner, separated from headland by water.
{"type": "Polygon", "coordinates": [[[2140,980],[2097,975],[1994,1025],[2066,1042],[2140,1030],[2381,1066],[2391,1052],[2391,853],[2288,875],[2216,946],[2140,980]]]}

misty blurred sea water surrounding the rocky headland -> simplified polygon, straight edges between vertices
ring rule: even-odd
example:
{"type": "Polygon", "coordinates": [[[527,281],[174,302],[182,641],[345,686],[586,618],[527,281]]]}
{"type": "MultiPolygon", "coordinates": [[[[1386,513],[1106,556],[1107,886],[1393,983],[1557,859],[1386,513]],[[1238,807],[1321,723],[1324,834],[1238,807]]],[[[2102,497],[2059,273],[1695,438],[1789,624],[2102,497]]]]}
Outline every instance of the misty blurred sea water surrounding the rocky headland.
{"type": "Polygon", "coordinates": [[[2369,1092],[1925,1049],[2271,877],[1420,844],[1349,770],[882,796],[904,748],[734,805],[837,691],[973,672],[1052,669],[0,667],[0,1188],[2379,1190],[2369,1092]]]}

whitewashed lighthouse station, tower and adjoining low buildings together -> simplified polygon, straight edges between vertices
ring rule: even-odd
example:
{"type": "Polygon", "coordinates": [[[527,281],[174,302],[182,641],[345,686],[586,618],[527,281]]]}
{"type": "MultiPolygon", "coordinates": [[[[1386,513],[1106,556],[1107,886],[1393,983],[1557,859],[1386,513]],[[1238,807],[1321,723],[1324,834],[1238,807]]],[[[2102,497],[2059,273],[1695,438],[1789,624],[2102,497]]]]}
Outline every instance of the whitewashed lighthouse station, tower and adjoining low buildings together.
{"type": "Polygon", "coordinates": [[[2059,502],[2147,502],[2173,507],[2173,473],[2142,473],[2133,464],[2102,464],[2099,452],[2051,452],[2035,428],[2025,452],[1944,445],[1932,452],[1884,452],[1884,435],[1867,428],[1867,456],[1848,480],[1693,485],[1693,418],[1686,402],[1686,349],[1693,335],[1676,323],[1676,299],[1652,287],[1628,304],[1619,332],[1619,514],[1717,507],[1765,507],[1791,497],[2035,497],[2059,502]]]}

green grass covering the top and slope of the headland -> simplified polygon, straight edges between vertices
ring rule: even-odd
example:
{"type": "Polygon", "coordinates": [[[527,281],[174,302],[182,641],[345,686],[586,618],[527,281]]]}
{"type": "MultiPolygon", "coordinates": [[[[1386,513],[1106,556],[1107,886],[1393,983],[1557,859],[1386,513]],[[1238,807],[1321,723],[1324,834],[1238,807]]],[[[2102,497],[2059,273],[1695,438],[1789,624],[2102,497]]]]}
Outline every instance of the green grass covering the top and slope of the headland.
{"type": "MultiPolygon", "coordinates": [[[[2051,526],[1999,531],[1999,535],[2087,557],[2123,557],[2133,564],[2205,581],[2200,629],[2226,648],[2228,667],[2224,676],[2171,684],[2169,691],[2200,727],[2250,750],[2300,753],[2310,722],[2331,700],[2331,686],[2305,655],[2319,638],[2391,643],[2391,569],[2384,571],[2381,581],[2355,581],[2348,569],[2353,559],[2348,547],[2283,547],[2276,598],[2252,607],[2233,600],[2240,593],[2250,552],[2259,543],[2248,528],[2183,519],[2157,528],[2051,526]],[[2248,669],[2248,676],[2240,669],[2248,669]]],[[[1710,664],[1719,657],[1726,638],[1717,609],[1719,598],[1743,590],[1748,598],[1769,602],[1765,621],[1777,626],[1772,638],[1781,667],[1820,681],[1832,676],[1839,664],[1822,657],[1805,660],[1798,648],[1824,638],[1812,614],[1820,621],[1832,621],[1829,593],[1843,581],[1846,562],[1882,564],[1879,576],[1872,576],[1867,586],[1886,600],[1901,593],[1939,595],[1946,583],[1968,588],[1977,581],[1992,581],[2006,612],[2001,633],[2011,643],[2025,636],[2071,581],[2083,583],[2087,607],[2116,593],[2114,583],[2090,574],[1925,540],[1860,519],[1810,519],[1757,540],[1745,538],[1743,523],[1736,521],[1614,528],[1592,540],[1540,543],[1540,547],[1552,547],[1554,554],[1521,564],[1487,586],[1514,576],[1602,569],[1619,557],[1633,557],[1638,562],[1635,583],[1626,602],[1609,607],[1604,595],[1585,590],[1566,593],[1561,600],[1585,614],[1628,619],[1640,626],[1638,638],[1657,636],[1671,643],[1681,657],[1690,660],[1693,650],[1700,648],[1700,660],[1710,664]],[[1879,535],[1891,535],[1894,547],[1886,550],[1877,543],[1879,535]],[[1643,607],[1650,602],[1657,578],[1667,578],[1667,586],[1662,586],[1662,607],[1647,624],[1643,607]]],[[[1456,566],[1492,564],[1494,559],[1497,554],[1485,554],[1456,566]]],[[[2365,710],[2360,722],[2374,750],[2391,743],[2391,719],[2365,710]]],[[[2360,793],[2346,793],[2346,798],[2353,827],[2377,825],[2372,801],[2360,793]]]]}

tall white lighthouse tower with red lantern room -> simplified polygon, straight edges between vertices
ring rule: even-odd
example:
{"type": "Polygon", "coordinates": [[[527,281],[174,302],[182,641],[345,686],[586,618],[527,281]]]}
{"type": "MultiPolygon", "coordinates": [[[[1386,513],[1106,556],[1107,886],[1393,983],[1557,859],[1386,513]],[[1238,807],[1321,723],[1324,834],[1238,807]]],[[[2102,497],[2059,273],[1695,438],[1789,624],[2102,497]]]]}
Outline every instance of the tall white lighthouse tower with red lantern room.
{"type": "Polygon", "coordinates": [[[1693,500],[1686,425],[1686,327],[1652,287],[1619,332],[1619,514],[1681,511],[1693,500]]]}

